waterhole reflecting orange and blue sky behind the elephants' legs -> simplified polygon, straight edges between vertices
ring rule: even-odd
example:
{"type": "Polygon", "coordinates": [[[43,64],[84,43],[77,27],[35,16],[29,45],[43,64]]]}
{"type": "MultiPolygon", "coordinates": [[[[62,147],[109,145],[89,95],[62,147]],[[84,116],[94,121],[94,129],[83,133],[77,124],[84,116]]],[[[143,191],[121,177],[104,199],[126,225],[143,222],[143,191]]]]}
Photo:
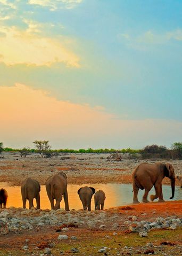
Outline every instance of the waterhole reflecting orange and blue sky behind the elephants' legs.
{"type": "MultiPolygon", "coordinates": [[[[79,210],[82,208],[81,201],[79,199],[79,195],[77,194],[77,190],[80,187],[84,187],[88,185],[89,187],[93,187],[97,190],[102,189],[105,192],[106,199],[104,208],[110,208],[113,206],[121,206],[130,204],[133,201],[133,188],[131,184],[118,184],[118,183],[107,183],[107,184],[82,184],[82,185],[68,185],[68,197],[69,197],[69,207],[70,209],[79,210]]],[[[22,207],[22,198],[20,187],[9,187],[7,183],[0,183],[0,188],[5,188],[9,194],[7,200],[7,207],[22,207]]],[[[171,187],[168,185],[163,185],[163,197],[164,200],[170,200],[171,197],[171,187]]],[[[138,199],[142,200],[144,191],[139,190],[138,199]]],[[[154,193],[154,189],[152,189],[149,193],[154,193]]],[[[173,200],[181,200],[182,199],[182,189],[180,187],[176,187],[175,198],[173,200]]],[[[34,199],[34,206],[36,206],[36,200],[34,199]]],[[[27,201],[27,208],[29,207],[27,201]]],[[[45,186],[41,186],[40,191],[40,207],[42,209],[51,208],[45,186]]],[[[64,208],[64,200],[61,201],[61,208],[64,208]]],[[[94,210],[94,197],[92,198],[92,210],[94,210]]]]}

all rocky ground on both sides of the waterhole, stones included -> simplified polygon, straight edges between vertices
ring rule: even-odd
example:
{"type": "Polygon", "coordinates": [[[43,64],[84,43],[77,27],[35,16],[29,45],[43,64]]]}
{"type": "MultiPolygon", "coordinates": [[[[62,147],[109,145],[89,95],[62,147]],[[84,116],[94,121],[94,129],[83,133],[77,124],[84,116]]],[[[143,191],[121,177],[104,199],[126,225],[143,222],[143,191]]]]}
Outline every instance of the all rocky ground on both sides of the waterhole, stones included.
{"type": "MultiPolygon", "coordinates": [[[[107,161],[106,154],[66,154],[42,159],[5,153],[0,182],[20,185],[26,177],[45,184],[63,170],[68,183],[130,183],[142,161],[107,161]]],[[[153,162],[153,161],[149,161],[153,162]]],[[[163,161],[165,162],[165,161],[163,161]]],[[[170,161],[181,175],[182,161],[170,161]]],[[[169,179],[164,180],[168,183],[169,179]]],[[[178,183],[177,183],[178,185],[178,183]]],[[[182,255],[182,201],[148,203],[105,211],[0,210],[0,255],[182,255]]]]}

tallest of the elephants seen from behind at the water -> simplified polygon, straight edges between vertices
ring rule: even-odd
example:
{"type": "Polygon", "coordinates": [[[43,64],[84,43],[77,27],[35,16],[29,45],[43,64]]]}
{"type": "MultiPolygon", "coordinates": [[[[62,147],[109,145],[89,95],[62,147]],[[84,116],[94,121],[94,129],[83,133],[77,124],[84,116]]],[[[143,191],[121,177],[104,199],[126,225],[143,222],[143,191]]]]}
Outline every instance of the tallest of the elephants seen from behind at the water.
{"type": "Polygon", "coordinates": [[[67,175],[63,172],[59,172],[51,177],[48,177],[46,180],[46,191],[49,201],[51,203],[51,209],[57,210],[60,209],[60,202],[62,196],[64,197],[65,210],[69,210],[68,204],[68,191],[67,191],[67,175]],[[54,199],[56,203],[54,205],[54,199]]]}

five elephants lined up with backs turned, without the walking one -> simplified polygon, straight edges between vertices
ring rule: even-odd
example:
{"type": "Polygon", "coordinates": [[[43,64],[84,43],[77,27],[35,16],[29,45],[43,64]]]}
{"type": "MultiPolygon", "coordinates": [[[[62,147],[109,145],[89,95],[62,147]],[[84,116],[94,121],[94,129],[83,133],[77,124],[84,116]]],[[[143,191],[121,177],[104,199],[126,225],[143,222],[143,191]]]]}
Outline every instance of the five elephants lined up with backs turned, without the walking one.
{"type": "MultiPolygon", "coordinates": [[[[67,175],[63,172],[59,172],[51,177],[48,177],[45,183],[47,196],[51,203],[51,209],[57,210],[60,209],[60,203],[62,197],[64,198],[65,210],[69,211],[68,203],[68,191],[67,191],[67,175]],[[55,199],[55,204],[54,204],[55,199]]],[[[81,203],[84,210],[91,210],[91,200],[92,196],[95,193],[95,189],[92,187],[84,187],[78,190],[78,195],[80,197],[81,203]]],[[[26,201],[29,201],[29,209],[34,207],[33,201],[36,199],[37,209],[40,209],[40,183],[37,180],[26,179],[21,184],[21,196],[23,201],[23,208],[26,208],[26,201]]],[[[95,193],[95,210],[103,210],[105,193],[102,190],[98,190],[95,193]]],[[[6,208],[7,201],[7,191],[5,189],[0,190],[0,208],[6,208]]]]}

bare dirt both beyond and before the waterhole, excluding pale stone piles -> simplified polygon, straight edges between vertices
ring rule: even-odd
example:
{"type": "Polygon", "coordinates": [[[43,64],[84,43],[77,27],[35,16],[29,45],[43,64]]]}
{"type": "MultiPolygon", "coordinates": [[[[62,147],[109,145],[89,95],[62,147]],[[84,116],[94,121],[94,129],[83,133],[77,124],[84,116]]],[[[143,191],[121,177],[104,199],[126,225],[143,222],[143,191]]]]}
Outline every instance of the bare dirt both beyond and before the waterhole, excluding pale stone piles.
{"type": "MultiPolygon", "coordinates": [[[[140,164],[140,160],[123,159],[120,162],[107,161],[107,154],[64,154],[58,158],[42,159],[36,154],[20,158],[18,153],[4,153],[0,159],[0,182],[10,185],[20,185],[23,179],[32,177],[45,184],[48,176],[63,170],[69,184],[81,183],[131,183],[131,173],[140,164]]],[[[154,162],[154,161],[147,161],[154,162]]],[[[166,162],[162,160],[162,162],[166,162]]],[[[182,161],[170,161],[176,175],[182,175],[182,161]]],[[[169,184],[169,179],[163,183],[169,184]]],[[[177,185],[179,185],[177,183],[177,185]]],[[[2,210],[1,210],[2,211],[2,210]]],[[[182,218],[182,201],[165,203],[148,203],[114,207],[104,211],[108,214],[119,214],[119,227],[109,228],[72,227],[66,232],[69,237],[76,236],[77,240],[58,241],[60,227],[44,226],[38,229],[21,232],[9,232],[0,235],[0,255],[47,255],[44,251],[54,244],[49,255],[146,255],[160,256],[182,255],[181,227],[175,230],[152,230],[148,237],[140,238],[138,234],[130,234],[129,229],[122,227],[123,218],[136,216],[138,221],[154,221],[157,217],[182,218]],[[116,233],[114,235],[114,232],[116,233]],[[161,245],[162,242],[170,242],[161,245]],[[152,245],[147,245],[152,243],[152,245]],[[27,249],[23,249],[27,246],[27,249]],[[106,247],[105,252],[98,250],[106,247]],[[76,248],[78,251],[73,251],[76,248]],[[110,250],[109,250],[110,249],[110,250]],[[148,253],[147,253],[148,250],[148,253]],[[152,251],[153,250],[153,251],[152,251]]],[[[103,220],[104,221],[104,220],[103,220]]],[[[61,232],[63,235],[65,233],[61,232]]]]}

